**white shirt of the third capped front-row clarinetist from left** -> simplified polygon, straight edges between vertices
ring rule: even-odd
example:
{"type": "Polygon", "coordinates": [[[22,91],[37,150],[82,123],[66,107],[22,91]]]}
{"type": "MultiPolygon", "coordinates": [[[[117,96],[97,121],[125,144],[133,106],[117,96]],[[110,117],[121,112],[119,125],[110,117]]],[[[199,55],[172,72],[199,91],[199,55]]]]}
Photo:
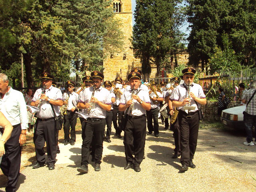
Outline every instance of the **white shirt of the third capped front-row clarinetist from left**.
{"type": "MultiPolygon", "coordinates": [[[[138,90],[140,90],[140,88],[138,88],[138,90]]],[[[136,94],[138,90],[135,90],[134,94],[136,94]]],[[[125,105],[131,99],[131,96],[132,96],[132,90],[125,91],[124,94],[122,94],[121,96],[120,105],[125,105]]],[[[138,96],[145,103],[151,103],[148,92],[144,90],[140,90],[140,92],[138,93],[138,96]]],[[[128,110],[128,114],[129,113],[130,113],[130,108],[128,110]]],[[[142,108],[141,104],[137,100],[134,100],[132,114],[130,115],[140,116],[143,114],[146,114],[146,110],[142,108]]]]}

